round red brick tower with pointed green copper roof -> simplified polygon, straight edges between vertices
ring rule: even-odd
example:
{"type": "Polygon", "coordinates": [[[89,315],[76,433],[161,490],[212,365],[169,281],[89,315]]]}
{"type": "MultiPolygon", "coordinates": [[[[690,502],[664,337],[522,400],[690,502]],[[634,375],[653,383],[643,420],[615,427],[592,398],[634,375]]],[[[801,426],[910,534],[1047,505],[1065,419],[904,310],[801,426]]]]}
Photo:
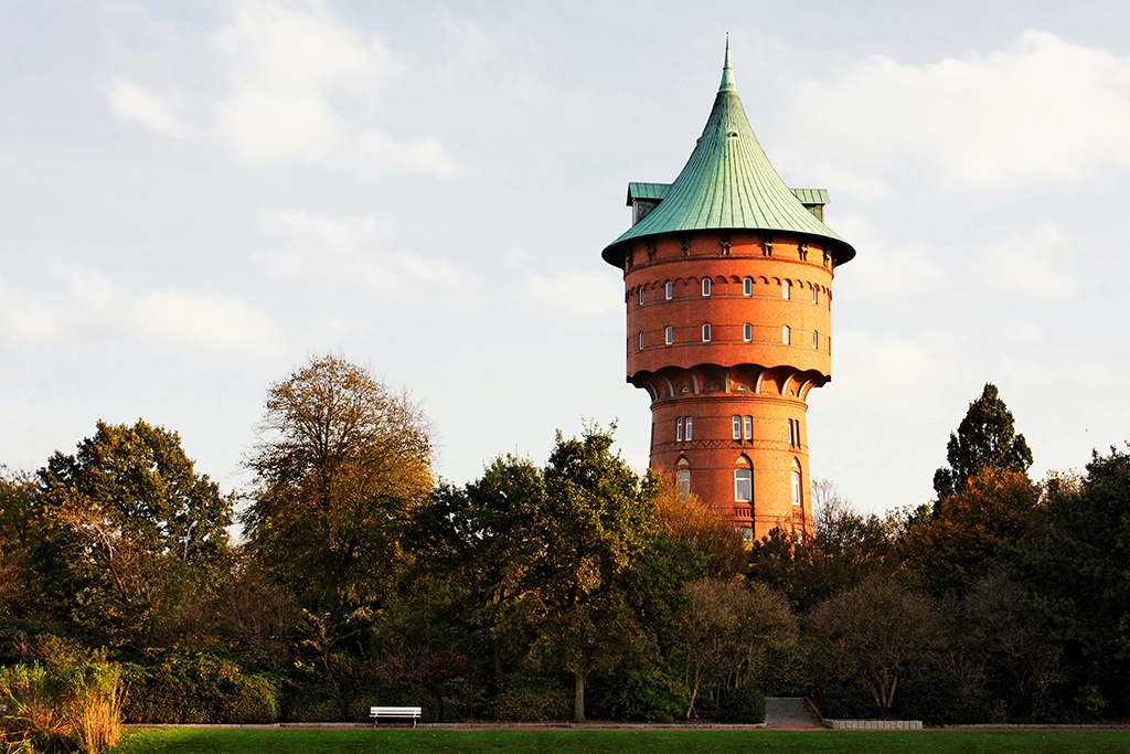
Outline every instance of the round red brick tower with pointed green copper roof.
{"type": "Polygon", "coordinates": [[[651,467],[753,539],[810,532],[806,398],[832,379],[832,277],[855,250],[823,189],[789,189],[722,85],[673,183],[629,183],[627,381],[651,396],[651,467]]]}

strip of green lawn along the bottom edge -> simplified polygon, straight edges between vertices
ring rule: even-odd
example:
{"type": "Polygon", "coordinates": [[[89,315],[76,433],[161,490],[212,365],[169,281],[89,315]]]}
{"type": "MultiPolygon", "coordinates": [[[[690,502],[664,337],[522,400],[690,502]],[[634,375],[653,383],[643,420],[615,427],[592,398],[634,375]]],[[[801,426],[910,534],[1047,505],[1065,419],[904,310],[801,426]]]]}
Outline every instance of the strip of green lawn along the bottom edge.
{"type": "Polygon", "coordinates": [[[780,730],[232,730],[134,729],[120,754],[929,754],[1130,752],[1130,733],[1024,731],[780,731],[780,730]]]}

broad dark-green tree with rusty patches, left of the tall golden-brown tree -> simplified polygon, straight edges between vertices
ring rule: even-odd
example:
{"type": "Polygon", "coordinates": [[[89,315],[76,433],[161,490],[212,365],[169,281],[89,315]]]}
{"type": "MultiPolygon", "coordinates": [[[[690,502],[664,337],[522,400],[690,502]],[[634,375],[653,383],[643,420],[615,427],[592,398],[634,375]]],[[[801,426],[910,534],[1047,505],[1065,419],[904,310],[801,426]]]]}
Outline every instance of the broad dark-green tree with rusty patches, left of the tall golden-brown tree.
{"type": "Polygon", "coordinates": [[[175,432],[98,422],[37,476],[47,531],[36,557],[56,617],[145,636],[219,580],[232,500],[194,473],[175,432]]]}

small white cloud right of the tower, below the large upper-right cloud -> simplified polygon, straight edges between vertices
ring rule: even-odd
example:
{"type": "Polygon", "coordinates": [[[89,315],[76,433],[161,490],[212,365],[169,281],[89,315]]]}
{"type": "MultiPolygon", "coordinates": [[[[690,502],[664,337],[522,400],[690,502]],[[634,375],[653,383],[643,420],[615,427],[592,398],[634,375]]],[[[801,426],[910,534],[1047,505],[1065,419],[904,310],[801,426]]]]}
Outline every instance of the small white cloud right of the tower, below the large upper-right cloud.
{"type": "Polygon", "coordinates": [[[1012,229],[981,250],[984,272],[997,285],[1035,298],[1070,298],[1079,292],[1076,280],[1055,268],[1057,259],[1075,252],[1071,240],[1054,223],[1033,229],[1012,229]]]}

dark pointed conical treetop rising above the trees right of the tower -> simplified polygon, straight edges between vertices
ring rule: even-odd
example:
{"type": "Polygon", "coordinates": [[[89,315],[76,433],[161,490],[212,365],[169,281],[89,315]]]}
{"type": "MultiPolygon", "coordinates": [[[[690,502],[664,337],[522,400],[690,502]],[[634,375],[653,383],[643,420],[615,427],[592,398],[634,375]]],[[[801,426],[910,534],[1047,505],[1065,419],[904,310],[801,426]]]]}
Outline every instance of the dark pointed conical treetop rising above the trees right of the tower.
{"type": "Polygon", "coordinates": [[[950,433],[946,444],[949,467],[935,471],[933,488],[938,500],[956,495],[970,477],[984,468],[1026,474],[1032,466],[1032,451],[1023,434],[1015,434],[1012,413],[1000,399],[997,385],[985,383],[981,397],[970,404],[970,410],[950,433]]]}

